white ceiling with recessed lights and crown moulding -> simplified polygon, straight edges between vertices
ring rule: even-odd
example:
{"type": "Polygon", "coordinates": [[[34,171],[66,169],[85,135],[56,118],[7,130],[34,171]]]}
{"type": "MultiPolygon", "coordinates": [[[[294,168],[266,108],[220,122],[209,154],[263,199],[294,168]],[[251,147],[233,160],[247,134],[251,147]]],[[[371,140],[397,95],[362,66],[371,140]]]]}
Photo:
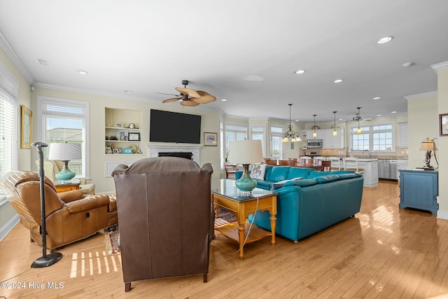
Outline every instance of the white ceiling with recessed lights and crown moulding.
{"type": "Polygon", "coordinates": [[[229,116],[288,119],[292,103],[293,120],[323,122],[437,90],[448,1],[0,0],[0,33],[36,86],[162,102],[186,79],[229,116]]]}

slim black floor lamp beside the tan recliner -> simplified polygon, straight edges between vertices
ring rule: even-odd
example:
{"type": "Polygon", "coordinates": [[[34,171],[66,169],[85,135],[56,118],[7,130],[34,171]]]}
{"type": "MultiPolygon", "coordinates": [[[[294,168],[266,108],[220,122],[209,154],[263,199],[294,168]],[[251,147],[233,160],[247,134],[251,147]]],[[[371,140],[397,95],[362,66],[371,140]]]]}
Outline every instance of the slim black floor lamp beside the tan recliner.
{"type": "Polygon", "coordinates": [[[41,183],[41,235],[42,235],[42,257],[34,260],[31,264],[32,268],[43,268],[49,267],[50,265],[57,263],[58,260],[62,258],[62,253],[54,252],[47,254],[47,228],[45,219],[45,185],[43,184],[43,179],[45,178],[45,173],[43,172],[43,152],[42,148],[47,147],[47,144],[43,142],[34,142],[31,146],[37,148],[37,153],[39,155],[39,182],[41,183]]]}

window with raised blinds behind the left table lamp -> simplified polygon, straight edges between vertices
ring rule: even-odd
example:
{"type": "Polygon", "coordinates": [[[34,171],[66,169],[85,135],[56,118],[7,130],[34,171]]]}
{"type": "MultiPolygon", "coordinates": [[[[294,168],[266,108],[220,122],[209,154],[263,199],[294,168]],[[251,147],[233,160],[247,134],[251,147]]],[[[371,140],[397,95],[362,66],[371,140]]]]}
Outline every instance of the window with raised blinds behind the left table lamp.
{"type": "MultiPolygon", "coordinates": [[[[38,97],[38,123],[40,140],[48,146],[54,142],[79,143],[82,158],[71,160],[69,168],[76,177],[89,177],[88,171],[88,137],[89,103],[69,100],[38,97]],[[41,114],[41,115],[39,115],[41,114]]],[[[43,156],[48,158],[49,147],[43,148],[43,156]]]]}

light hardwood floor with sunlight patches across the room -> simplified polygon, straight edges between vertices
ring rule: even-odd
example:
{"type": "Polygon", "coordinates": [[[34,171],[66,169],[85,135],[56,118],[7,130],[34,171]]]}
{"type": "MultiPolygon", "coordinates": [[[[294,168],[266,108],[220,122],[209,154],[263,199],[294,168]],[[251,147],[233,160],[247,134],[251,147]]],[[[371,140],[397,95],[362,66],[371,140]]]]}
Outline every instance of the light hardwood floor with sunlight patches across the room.
{"type": "Polygon", "coordinates": [[[59,249],[55,265],[31,269],[42,251],[19,224],[0,242],[0,281],[25,288],[0,288],[0,298],[447,298],[448,221],[398,209],[399,201],[398,184],[381,181],[364,189],[355,217],[297,244],[280,236],[275,246],[269,237],[247,244],[244,260],[221,235],[209,282],[136,281],[127,293],[120,255],[104,255],[102,233],[59,249]],[[48,288],[52,282],[63,288],[48,288]]]}

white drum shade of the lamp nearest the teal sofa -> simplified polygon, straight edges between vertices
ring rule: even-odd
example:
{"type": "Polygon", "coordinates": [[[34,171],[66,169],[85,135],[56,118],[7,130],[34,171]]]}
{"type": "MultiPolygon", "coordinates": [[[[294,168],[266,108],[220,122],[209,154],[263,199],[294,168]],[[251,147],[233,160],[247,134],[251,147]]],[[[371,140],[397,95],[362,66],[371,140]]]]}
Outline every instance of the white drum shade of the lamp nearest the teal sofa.
{"type": "Polygon", "coordinates": [[[228,161],[232,164],[263,162],[261,140],[230,141],[228,161]]]}

